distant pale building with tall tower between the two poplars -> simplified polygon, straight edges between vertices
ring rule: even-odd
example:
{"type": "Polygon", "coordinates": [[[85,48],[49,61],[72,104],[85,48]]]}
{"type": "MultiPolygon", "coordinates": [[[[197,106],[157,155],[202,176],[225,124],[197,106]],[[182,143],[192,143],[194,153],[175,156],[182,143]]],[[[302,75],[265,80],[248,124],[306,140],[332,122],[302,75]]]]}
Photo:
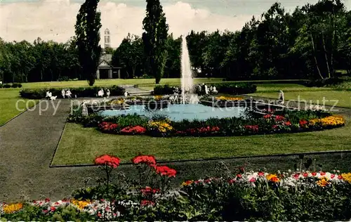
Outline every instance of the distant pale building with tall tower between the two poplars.
{"type": "Polygon", "coordinates": [[[105,48],[111,48],[110,30],[105,30],[104,48],[96,71],[96,79],[121,79],[121,67],[112,65],[112,54],[106,54],[105,48]]]}

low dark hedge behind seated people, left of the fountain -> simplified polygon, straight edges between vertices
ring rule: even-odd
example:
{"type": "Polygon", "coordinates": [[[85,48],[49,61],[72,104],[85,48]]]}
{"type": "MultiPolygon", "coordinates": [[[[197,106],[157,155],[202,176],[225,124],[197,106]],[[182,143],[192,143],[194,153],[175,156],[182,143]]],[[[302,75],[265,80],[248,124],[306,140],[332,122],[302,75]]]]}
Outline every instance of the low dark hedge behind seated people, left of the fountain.
{"type": "MultiPolygon", "coordinates": [[[[70,89],[72,93],[72,97],[77,95],[77,97],[96,97],[98,91],[101,87],[95,86],[92,88],[74,88],[70,89]]],[[[103,88],[106,96],[106,89],[110,89],[110,96],[122,96],[124,95],[124,88],[119,86],[111,86],[108,88],[103,88]]],[[[65,89],[66,90],[66,89],[65,89]]],[[[29,99],[41,99],[45,98],[46,91],[51,91],[53,96],[58,96],[58,98],[62,98],[61,91],[62,89],[24,89],[20,91],[20,96],[22,98],[29,98],[29,99]]]]}

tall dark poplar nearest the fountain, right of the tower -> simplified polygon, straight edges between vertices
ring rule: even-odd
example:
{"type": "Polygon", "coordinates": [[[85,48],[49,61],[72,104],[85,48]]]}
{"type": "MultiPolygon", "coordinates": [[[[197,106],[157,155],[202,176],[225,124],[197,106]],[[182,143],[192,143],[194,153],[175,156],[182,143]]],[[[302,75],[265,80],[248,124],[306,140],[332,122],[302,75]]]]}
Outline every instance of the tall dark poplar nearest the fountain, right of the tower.
{"type": "Polygon", "coordinates": [[[145,71],[148,75],[153,75],[156,84],[159,84],[168,57],[168,25],[159,0],[147,0],[146,2],[146,16],[143,20],[145,71]]]}

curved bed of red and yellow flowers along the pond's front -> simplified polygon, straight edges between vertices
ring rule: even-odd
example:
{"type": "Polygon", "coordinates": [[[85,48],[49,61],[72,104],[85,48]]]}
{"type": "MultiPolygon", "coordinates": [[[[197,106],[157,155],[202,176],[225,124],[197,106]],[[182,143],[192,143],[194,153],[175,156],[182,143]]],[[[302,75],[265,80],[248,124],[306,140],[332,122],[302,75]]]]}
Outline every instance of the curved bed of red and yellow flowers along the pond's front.
{"type": "MultiPolygon", "coordinates": [[[[223,100],[220,100],[223,101],[223,100]]],[[[253,115],[251,118],[230,117],[210,118],[206,120],[184,119],[180,122],[170,121],[164,116],[147,119],[139,115],[118,115],[103,117],[93,113],[88,117],[81,117],[74,112],[69,117],[70,122],[84,124],[84,126],[98,126],[104,133],[149,136],[242,136],[269,133],[291,133],[301,131],[317,131],[344,126],[345,119],[331,115],[322,110],[270,110],[266,115],[253,115]]]]}

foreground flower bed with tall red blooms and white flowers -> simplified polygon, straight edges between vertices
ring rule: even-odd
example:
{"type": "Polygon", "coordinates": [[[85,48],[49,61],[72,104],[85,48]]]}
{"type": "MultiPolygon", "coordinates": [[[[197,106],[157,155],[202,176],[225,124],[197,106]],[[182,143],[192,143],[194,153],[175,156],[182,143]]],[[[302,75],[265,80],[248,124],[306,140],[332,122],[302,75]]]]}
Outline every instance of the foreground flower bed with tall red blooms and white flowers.
{"type": "MultiPolygon", "coordinates": [[[[168,183],[178,171],[152,155],[131,159],[135,180],[114,176],[119,158],[96,157],[107,173],[99,184],[76,190],[71,200],[0,204],[10,221],[347,221],[351,173],[246,171],[219,166],[217,176],[168,183]],[[102,161],[103,160],[103,161],[102,161]],[[106,164],[107,163],[107,164],[106,164]],[[112,163],[112,164],[108,164],[112,163]],[[114,167],[116,166],[116,167],[114,167]],[[112,178],[114,177],[114,178],[112,178]],[[35,217],[34,217],[35,216],[35,217]]],[[[310,164],[310,167],[315,167],[310,164]]]]}

